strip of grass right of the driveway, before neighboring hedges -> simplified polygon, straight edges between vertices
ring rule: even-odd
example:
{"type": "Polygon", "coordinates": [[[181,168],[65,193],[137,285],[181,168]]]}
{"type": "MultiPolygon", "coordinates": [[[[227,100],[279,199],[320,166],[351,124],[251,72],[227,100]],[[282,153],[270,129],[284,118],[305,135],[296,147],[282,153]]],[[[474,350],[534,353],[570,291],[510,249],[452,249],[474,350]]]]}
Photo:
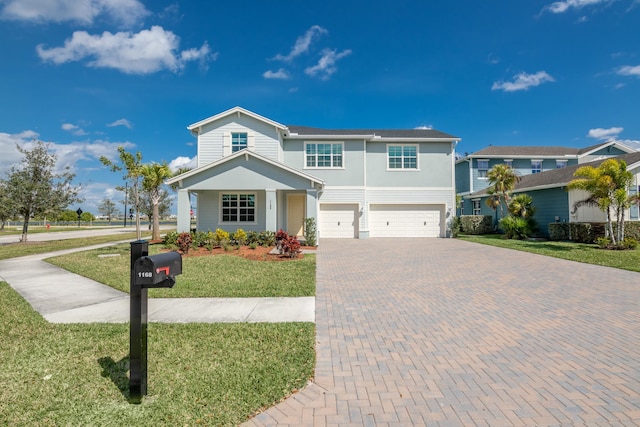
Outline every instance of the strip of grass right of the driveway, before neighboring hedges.
{"type": "Polygon", "coordinates": [[[460,235],[459,238],[484,245],[640,272],[640,250],[638,249],[614,251],[600,249],[596,245],[586,243],[509,240],[498,234],[460,235]]]}

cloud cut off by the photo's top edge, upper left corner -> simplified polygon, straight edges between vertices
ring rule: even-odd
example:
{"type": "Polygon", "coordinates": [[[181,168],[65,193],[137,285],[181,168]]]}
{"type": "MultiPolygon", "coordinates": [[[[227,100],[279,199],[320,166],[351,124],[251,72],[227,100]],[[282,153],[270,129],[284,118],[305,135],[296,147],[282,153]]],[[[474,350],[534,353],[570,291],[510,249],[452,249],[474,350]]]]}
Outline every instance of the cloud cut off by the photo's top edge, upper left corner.
{"type": "Polygon", "coordinates": [[[3,19],[85,25],[103,15],[129,27],[141,22],[149,11],[138,0],[5,0],[0,11],[3,19]]]}

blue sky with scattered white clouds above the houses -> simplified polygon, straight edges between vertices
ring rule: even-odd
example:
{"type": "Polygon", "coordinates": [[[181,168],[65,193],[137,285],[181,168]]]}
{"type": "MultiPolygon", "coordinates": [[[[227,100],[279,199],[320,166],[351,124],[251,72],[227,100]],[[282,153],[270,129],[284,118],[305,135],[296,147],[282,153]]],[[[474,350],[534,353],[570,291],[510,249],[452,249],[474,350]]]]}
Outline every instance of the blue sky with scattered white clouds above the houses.
{"type": "Polygon", "coordinates": [[[101,155],[184,164],[186,126],[237,105],[462,154],[638,141],[639,42],[639,0],[0,0],[0,174],[49,142],[97,213],[122,198],[101,155]]]}

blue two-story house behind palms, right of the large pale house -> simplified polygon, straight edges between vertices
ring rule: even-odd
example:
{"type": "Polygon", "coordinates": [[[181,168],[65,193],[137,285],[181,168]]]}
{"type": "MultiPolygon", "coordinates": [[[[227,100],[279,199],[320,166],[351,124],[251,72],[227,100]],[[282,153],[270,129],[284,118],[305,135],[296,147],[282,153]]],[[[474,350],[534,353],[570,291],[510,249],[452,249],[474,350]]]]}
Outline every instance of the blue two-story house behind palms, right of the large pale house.
{"type": "Polygon", "coordinates": [[[586,148],[489,146],[456,161],[456,191],[463,197],[458,213],[477,215],[487,209],[493,213],[474,193],[489,186],[487,173],[497,164],[507,164],[524,177],[634,152],[618,141],[586,148]]]}

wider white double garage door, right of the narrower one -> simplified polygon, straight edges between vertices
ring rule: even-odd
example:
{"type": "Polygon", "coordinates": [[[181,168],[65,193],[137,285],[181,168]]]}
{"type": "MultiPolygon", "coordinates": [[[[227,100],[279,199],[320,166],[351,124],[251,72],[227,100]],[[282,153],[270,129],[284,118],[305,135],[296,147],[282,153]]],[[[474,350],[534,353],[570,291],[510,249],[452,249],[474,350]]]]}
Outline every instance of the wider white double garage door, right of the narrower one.
{"type": "Polygon", "coordinates": [[[440,237],[438,205],[371,205],[371,237],[440,237]]]}

